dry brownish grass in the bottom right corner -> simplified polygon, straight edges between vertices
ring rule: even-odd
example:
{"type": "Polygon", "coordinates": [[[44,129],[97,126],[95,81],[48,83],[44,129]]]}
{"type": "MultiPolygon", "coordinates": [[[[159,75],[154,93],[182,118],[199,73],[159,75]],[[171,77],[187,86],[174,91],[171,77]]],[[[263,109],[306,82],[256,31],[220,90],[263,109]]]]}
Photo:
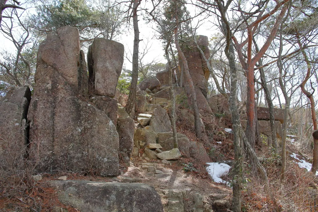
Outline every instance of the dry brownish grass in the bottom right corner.
{"type": "MultiPolygon", "coordinates": [[[[268,156],[268,155],[267,155],[268,156]]],[[[301,169],[293,161],[287,161],[286,183],[280,183],[279,162],[263,162],[270,188],[266,195],[259,178],[247,174],[250,182],[242,192],[244,211],[253,212],[315,212],[318,211],[318,177],[301,169]]]]}

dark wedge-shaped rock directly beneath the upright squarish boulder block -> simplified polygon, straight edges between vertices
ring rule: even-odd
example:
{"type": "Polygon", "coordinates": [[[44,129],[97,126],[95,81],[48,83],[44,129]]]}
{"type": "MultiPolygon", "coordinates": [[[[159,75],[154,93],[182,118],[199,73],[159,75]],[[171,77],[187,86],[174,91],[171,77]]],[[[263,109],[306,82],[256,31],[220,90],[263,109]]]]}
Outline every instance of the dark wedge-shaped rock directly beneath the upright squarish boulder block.
{"type": "Polygon", "coordinates": [[[106,113],[106,115],[116,126],[118,110],[117,100],[108,96],[93,96],[93,98],[91,98],[91,101],[97,109],[106,113]]]}

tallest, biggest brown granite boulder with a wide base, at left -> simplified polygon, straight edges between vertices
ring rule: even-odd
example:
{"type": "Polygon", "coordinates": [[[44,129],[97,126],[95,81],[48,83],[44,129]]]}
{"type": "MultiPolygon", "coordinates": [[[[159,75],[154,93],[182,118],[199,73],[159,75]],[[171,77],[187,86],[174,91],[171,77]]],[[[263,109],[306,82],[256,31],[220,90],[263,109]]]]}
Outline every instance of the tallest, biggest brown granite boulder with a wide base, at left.
{"type": "Polygon", "coordinates": [[[28,113],[29,154],[38,171],[116,175],[118,133],[105,112],[77,98],[78,57],[75,27],[61,27],[40,44],[28,113]]]}

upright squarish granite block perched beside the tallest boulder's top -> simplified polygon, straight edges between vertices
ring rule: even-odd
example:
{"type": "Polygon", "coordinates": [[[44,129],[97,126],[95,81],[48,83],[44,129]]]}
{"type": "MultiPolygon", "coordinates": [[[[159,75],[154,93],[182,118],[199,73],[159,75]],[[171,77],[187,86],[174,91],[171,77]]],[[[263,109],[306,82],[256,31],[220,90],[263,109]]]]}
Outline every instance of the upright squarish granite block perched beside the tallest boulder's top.
{"type": "Polygon", "coordinates": [[[87,53],[91,93],[115,97],[123,58],[123,44],[105,38],[94,39],[87,53]]]}

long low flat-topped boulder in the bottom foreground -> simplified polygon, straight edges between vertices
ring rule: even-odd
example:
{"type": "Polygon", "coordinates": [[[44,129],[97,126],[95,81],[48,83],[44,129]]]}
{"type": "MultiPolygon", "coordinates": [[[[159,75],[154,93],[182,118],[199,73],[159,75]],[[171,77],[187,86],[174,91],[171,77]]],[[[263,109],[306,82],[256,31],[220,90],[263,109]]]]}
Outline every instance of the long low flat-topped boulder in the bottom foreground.
{"type": "Polygon", "coordinates": [[[155,188],[142,183],[50,181],[58,199],[81,212],[163,212],[155,188]]]}

